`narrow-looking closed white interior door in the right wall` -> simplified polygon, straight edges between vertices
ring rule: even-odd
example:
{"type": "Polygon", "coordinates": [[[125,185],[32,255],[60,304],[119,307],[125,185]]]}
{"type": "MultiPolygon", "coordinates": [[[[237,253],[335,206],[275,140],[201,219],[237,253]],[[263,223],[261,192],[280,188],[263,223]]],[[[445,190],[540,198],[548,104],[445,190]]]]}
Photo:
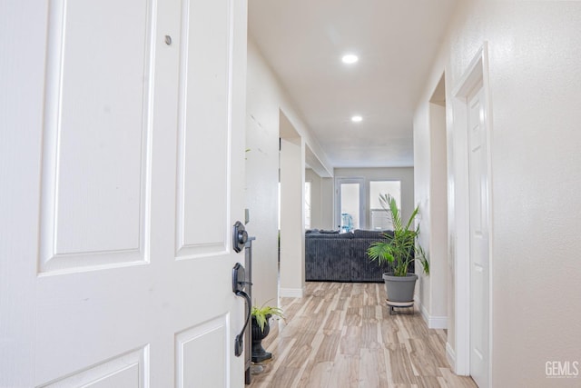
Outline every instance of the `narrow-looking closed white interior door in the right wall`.
{"type": "Polygon", "coordinates": [[[484,89],[468,96],[468,184],[470,203],[470,375],[488,382],[488,172],[484,89]]]}

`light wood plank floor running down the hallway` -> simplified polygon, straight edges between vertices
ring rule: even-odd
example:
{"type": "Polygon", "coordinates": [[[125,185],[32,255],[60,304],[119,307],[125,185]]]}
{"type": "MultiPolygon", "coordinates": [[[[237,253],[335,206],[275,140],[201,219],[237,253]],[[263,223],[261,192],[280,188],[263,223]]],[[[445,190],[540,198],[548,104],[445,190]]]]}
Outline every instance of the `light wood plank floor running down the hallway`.
{"type": "Polygon", "coordinates": [[[262,341],[272,353],[250,387],[476,387],[452,373],[446,333],[421,315],[389,315],[383,284],[307,283],[281,298],[286,321],[262,341]]]}

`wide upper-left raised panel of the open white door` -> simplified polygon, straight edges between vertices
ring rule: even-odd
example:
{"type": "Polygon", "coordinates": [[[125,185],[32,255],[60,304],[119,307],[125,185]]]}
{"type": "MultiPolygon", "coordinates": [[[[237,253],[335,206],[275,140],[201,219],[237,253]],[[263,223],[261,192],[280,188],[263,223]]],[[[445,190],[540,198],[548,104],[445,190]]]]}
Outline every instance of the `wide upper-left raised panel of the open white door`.
{"type": "Polygon", "coordinates": [[[149,260],[152,8],[50,4],[39,274],[149,260]]]}

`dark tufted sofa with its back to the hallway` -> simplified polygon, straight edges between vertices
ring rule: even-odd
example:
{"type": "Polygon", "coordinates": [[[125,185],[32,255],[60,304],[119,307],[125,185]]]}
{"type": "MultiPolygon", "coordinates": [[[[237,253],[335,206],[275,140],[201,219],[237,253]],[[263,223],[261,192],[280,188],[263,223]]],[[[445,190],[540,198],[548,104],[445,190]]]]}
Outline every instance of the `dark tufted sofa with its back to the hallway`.
{"type": "MultiPolygon", "coordinates": [[[[386,232],[388,235],[393,233],[386,232]]],[[[381,275],[391,272],[390,264],[371,262],[367,249],[385,238],[383,232],[356,229],[339,234],[311,230],[305,234],[305,279],[308,282],[383,283],[381,275]]],[[[409,272],[413,273],[413,263],[409,272]]]]}

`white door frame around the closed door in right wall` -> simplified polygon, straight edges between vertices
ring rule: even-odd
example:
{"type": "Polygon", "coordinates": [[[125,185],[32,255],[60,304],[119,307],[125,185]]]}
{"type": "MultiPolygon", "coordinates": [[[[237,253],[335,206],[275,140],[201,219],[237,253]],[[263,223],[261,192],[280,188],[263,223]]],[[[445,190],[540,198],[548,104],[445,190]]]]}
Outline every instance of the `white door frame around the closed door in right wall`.
{"type": "Polygon", "coordinates": [[[492,109],[488,75],[488,45],[485,41],[478,49],[466,72],[460,77],[452,92],[453,125],[452,147],[453,165],[448,180],[454,182],[455,194],[448,196],[451,219],[448,224],[450,254],[454,258],[454,299],[455,299],[455,349],[447,346],[448,358],[454,364],[454,371],[460,375],[470,373],[470,211],[468,190],[468,108],[467,98],[473,88],[482,84],[484,92],[484,123],[487,132],[487,195],[488,195],[488,382],[492,382],[492,321],[493,321],[493,190],[492,190],[492,109]],[[468,259],[467,259],[468,258],[468,259]],[[455,352],[454,352],[455,351],[455,352]]]}

